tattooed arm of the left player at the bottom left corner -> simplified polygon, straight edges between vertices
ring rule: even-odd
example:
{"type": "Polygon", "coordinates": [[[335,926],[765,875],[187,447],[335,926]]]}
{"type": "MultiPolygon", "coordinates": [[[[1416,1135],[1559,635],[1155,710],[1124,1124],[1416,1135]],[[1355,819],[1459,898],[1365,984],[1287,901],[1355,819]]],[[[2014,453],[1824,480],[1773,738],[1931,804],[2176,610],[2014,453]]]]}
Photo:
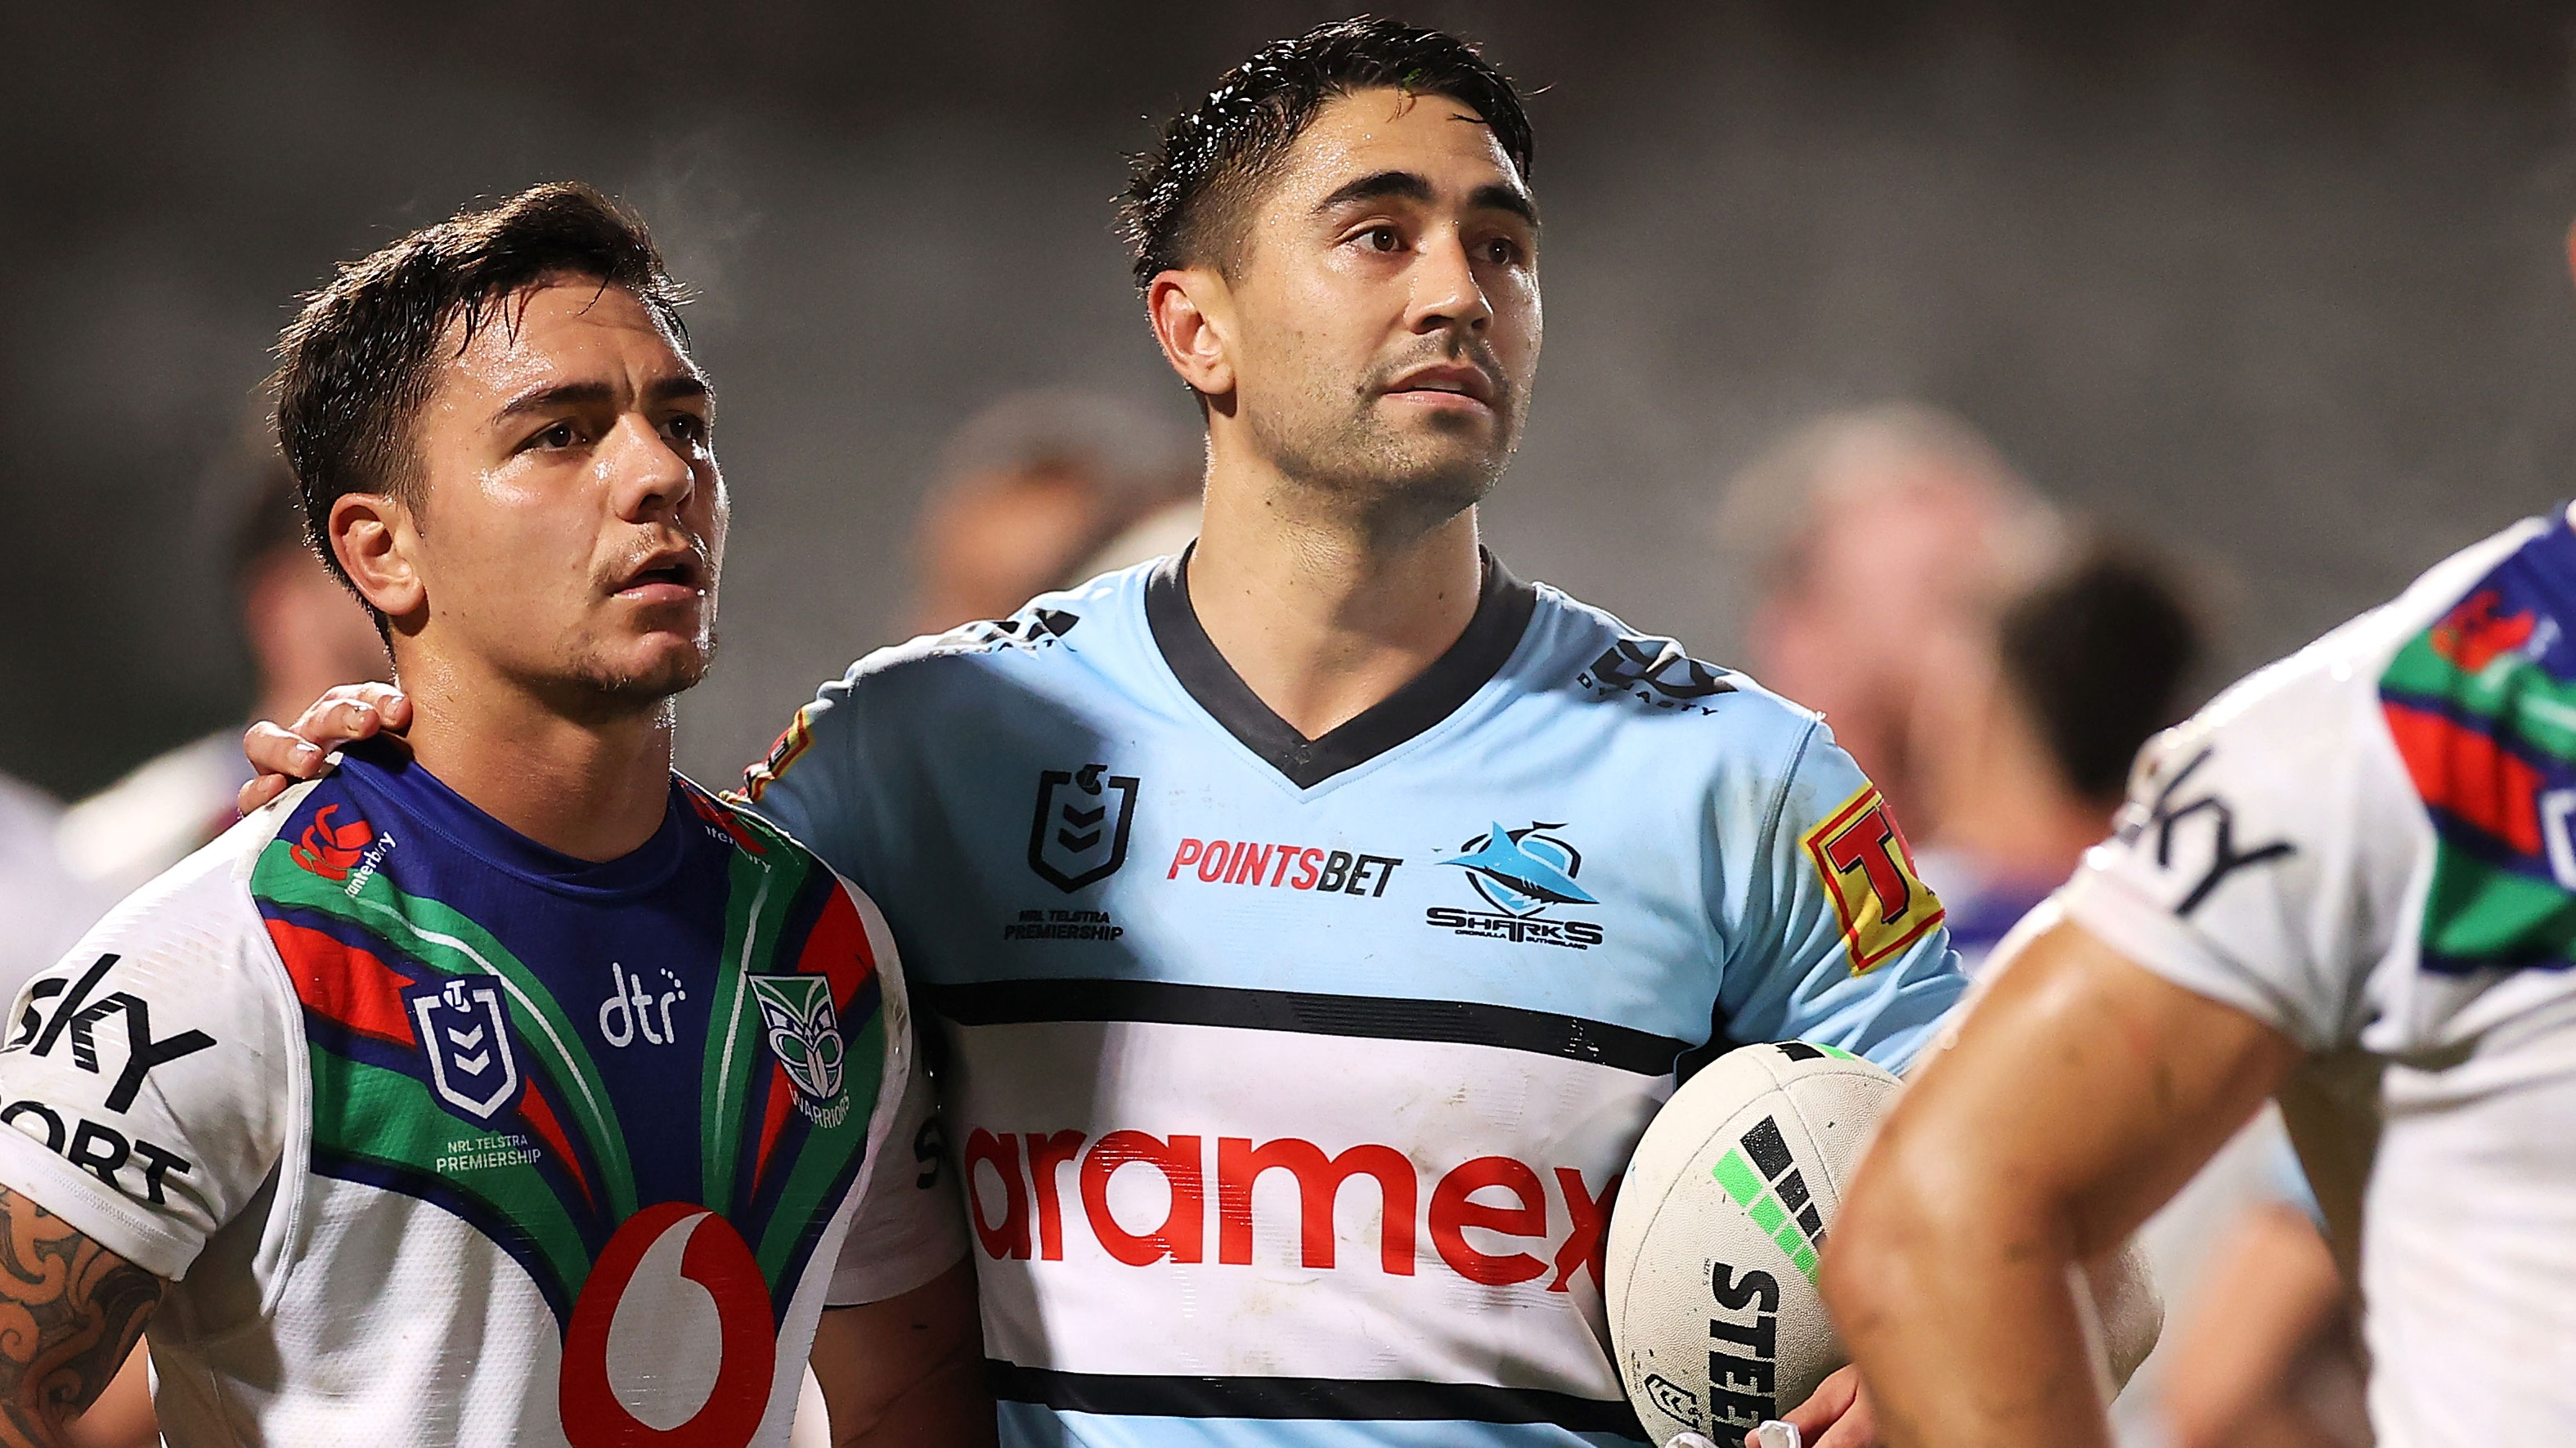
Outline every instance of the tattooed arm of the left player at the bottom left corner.
{"type": "Polygon", "coordinates": [[[162,1281],[0,1188],[0,1448],[54,1443],[124,1366],[162,1281]]]}

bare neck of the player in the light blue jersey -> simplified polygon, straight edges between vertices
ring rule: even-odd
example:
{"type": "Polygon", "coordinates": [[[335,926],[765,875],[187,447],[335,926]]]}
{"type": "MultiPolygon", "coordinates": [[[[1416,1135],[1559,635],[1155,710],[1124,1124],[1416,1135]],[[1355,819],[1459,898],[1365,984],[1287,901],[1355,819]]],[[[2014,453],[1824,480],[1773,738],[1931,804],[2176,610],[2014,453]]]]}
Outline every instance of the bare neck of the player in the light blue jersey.
{"type": "Polygon", "coordinates": [[[1476,510],[1388,533],[1283,495],[1211,479],[1190,608],[1244,685],[1321,739],[1466,634],[1484,580],[1476,510]]]}

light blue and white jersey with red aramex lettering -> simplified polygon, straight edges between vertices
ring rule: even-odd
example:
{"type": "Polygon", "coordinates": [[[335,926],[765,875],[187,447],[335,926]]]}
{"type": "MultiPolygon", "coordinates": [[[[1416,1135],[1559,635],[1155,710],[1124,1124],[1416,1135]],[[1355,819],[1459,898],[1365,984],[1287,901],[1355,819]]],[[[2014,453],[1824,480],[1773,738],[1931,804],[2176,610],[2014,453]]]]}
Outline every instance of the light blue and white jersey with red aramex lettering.
{"type": "Polygon", "coordinates": [[[1960,992],[1814,714],[1492,562],[1321,739],[1162,562],[863,660],[750,788],[938,1023],[1015,1445],[1628,1440],[1602,1226],[1677,1069],[1901,1064],[1960,992]]]}

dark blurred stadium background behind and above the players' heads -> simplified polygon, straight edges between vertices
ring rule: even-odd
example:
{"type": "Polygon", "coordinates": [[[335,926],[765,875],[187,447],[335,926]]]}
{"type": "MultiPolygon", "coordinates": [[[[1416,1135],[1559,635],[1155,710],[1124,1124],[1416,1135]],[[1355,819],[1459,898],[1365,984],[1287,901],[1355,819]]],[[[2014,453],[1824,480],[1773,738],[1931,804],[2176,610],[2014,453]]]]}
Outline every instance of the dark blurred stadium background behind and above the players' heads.
{"type": "MultiPolygon", "coordinates": [[[[214,459],[294,296],[574,175],[696,283],[737,495],[729,778],[899,636],[943,438],[1020,386],[1190,410],[1110,232],[1151,119],[1329,5],[8,5],[0,770],[59,796],[240,719],[214,459]]],[[[1548,361],[1489,510],[1726,660],[1723,479],[1919,397],[2228,577],[2221,672],[2576,456],[2563,5],[1468,5],[1540,93],[1548,361]]]]}

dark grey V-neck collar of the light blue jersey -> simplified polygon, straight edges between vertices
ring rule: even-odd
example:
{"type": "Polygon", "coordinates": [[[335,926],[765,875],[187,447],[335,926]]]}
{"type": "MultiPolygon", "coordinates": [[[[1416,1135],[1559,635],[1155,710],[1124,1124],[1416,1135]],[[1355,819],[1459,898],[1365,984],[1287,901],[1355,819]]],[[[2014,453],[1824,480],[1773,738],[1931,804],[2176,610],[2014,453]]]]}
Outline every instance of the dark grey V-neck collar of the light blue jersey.
{"type": "Polygon", "coordinates": [[[1479,549],[1484,580],[1466,634],[1458,634],[1458,642],[1412,683],[1321,739],[1309,739],[1273,714],[1208,642],[1198,608],[1190,605],[1190,551],[1195,544],[1146,577],[1144,618],[1154,629],[1154,647],[1200,709],[1298,788],[1314,788],[1347,768],[1365,765],[1455,714],[1512,657],[1530,629],[1530,613],[1538,611],[1538,590],[1479,549]]]}

